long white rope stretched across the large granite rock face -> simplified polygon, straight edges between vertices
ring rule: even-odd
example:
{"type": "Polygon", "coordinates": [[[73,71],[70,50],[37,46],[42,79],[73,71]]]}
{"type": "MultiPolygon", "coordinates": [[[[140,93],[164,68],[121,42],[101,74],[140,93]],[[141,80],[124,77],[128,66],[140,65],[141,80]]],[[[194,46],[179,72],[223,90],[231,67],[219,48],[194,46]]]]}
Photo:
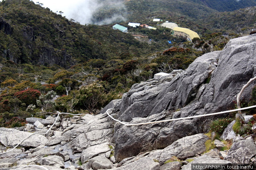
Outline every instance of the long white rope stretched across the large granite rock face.
{"type": "Polygon", "coordinates": [[[227,111],[215,112],[215,113],[210,113],[210,114],[205,114],[205,115],[196,115],[196,116],[189,116],[189,117],[185,117],[185,118],[175,118],[175,119],[159,120],[159,121],[154,121],[154,122],[131,123],[131,124],[127,124],[127,123],[121,122],[120,120],[117,120],[117,119],[113,118],[112,116],[110,116],[109,113],[108,113],[108,111],[109,111],[110,109],[112,109],[112,108],[108,109],[108,110],[106,111],[106,113],[108,114],[108,116],[109,116],[110,118],[112,118],[112,119],[115,120],[116,122],[119,122],[119,123],[124,124],[124,125],[126,125],[126,126],[136,126],[136,125],[143,125],[143,124],[170,122],[170,121],[173,121],[173,120],[182,120],[182,119],[191,119],[191,118],[199,118],[199,117],[204,117],[204,116],[218,115],[218,114],[223,114],[223,113],[228,113],[228,112],[233,112],[233,111],[238,111],[238,110],[246,110],[246,109],[254,108],[254,107],[256,107],[256,105],[255,105],[255,106],[250,106],[250,107],[238,108],[238,109],[234,109],[234,110],[227,110],[227,111]]]}

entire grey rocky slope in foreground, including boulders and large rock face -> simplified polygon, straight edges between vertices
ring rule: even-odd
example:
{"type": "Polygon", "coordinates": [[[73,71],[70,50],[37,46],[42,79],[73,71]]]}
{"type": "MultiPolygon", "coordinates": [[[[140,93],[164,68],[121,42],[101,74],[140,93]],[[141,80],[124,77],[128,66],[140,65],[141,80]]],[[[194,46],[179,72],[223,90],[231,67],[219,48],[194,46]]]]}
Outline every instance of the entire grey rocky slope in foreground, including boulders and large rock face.
{"type": "MultiPolygon", "coordinates": [[[[231,148],[221,151],[225,144],[204,134],[217,116],[125,126],[105,112],[113,108],[109,112],[114,118],[140,123],[227,110],[242,86],[256,76],[255,56],[256,35],[233,39],[223,51],[197,58],[185,71],[157,74],[154,79],[134,84],[101,114],[58,119],[47,135],[33,135],[19,149],[0,155],[0,168],[43,165],[47,169],[162,170],[191,169],[191,163],[255,164],[254,136],[232,136],[231,148]],[[209,142],[216,148],[211,150],[209,142]]],[[[245,99],[255,84],[246,88],[245,99]]],[[[54,117],[28,118],[27,122],[26,127],[16,130],[0,129],[2,152],[29,132],[46,132],[54,117]]],[[[224,134],[227,137],[231,133],[224,134]]]]}

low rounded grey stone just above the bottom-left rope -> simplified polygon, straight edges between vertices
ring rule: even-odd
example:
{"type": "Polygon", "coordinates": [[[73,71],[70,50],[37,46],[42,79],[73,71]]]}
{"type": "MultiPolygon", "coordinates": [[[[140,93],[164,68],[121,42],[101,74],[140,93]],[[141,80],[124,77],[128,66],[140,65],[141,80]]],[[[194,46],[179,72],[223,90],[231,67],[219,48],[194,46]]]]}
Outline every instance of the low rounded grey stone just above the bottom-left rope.
{"type": "Polygon", "coordinates": [[[64,160],[62,157],[57,155],[49,155],[46,157],[39,158],[37,163],[40,165],[49,165],[53,167],[64,168],[64,160]]]}

